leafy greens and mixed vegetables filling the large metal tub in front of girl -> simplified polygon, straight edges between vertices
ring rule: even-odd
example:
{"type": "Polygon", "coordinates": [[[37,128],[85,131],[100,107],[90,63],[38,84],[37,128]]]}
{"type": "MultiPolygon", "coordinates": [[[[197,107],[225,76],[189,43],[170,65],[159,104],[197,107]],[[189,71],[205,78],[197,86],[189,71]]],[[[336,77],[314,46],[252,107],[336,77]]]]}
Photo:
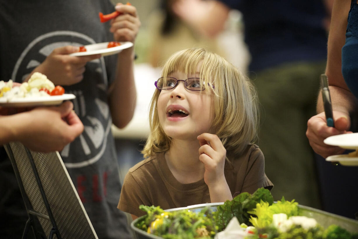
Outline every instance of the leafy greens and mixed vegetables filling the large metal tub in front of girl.
{"type": "Polygon", "coordinates": [[[167,239],[358,239],[338,225],[324,229],[314,218],[300,215],[295,200],[274,203],[269,190],[241,193],[216,208],[164,211],[144,206],[147,212],[135,227],[167,239]],[[216,209],[216,210],[215,210],[216,209]]]}

